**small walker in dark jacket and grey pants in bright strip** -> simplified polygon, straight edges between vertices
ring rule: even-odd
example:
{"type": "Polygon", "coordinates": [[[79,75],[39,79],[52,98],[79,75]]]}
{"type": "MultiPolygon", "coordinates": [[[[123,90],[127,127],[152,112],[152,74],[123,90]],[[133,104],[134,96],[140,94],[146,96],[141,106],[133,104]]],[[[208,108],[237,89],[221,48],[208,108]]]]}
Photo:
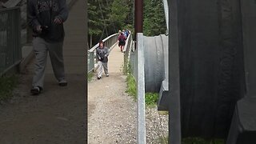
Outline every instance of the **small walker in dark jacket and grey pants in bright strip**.
{"type": "Polygon", "coordinates": [[[96,49],[96,56],[98,58],[98,79],[102,78],[102,69],[104,68],[104,72],[106,74],[106,77],[109,77],[108,73],[108,67],[107,67],[107,62],[108,62],[108,56],[110,54],[109,48],[104,46],[104,42],[100,41],[98,42],[98,48],[96,49]]]}

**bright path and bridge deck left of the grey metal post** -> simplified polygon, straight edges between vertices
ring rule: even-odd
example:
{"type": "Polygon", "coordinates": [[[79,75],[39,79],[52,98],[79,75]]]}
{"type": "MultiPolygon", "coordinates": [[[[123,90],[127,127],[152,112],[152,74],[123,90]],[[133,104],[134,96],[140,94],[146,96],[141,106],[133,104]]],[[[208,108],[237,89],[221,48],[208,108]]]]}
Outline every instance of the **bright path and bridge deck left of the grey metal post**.
{"type": "Polygon", "coordinates": [[[110,53],[110,77],[88,83],[88,143],[135,143],[135,102],[126,91],[122,53],[110,53]],[[111,62],[112,61],[112,62],[111,62]]]}

